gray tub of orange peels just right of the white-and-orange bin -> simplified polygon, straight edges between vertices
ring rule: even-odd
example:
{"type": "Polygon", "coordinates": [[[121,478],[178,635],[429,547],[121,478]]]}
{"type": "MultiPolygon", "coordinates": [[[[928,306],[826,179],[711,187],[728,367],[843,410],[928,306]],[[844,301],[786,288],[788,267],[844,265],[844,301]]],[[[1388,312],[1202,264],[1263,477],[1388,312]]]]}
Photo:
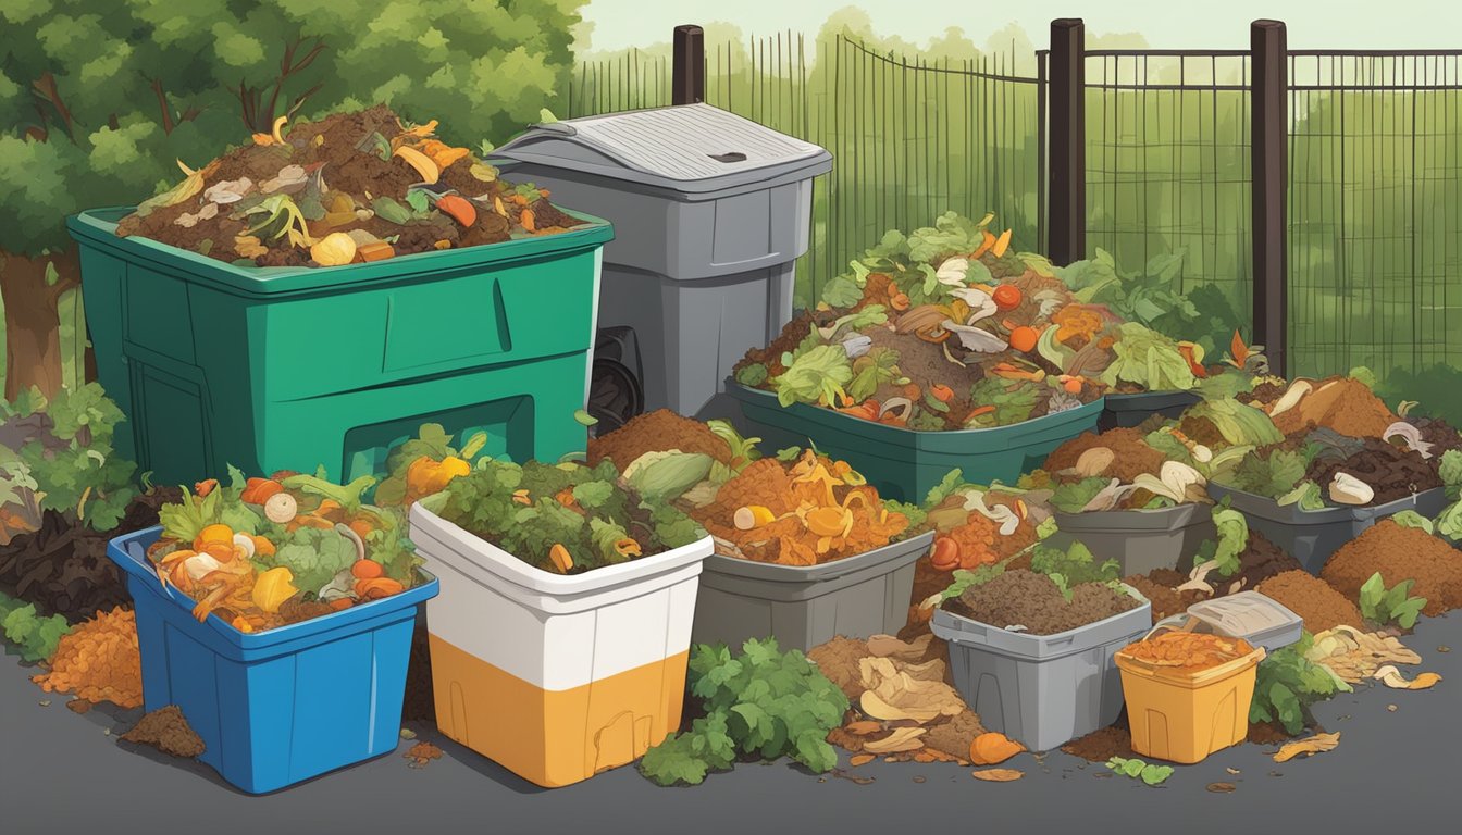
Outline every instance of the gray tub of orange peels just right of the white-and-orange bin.
{"type": "Polygon", "coordinates": [[[892,635],[908,621],[914,563],[933,541],[930,531],[806,567],[712,554],[700,570],[690,639],[740,646],[772,635],[782,649],[806,652],[839,635],[892,635]]]}

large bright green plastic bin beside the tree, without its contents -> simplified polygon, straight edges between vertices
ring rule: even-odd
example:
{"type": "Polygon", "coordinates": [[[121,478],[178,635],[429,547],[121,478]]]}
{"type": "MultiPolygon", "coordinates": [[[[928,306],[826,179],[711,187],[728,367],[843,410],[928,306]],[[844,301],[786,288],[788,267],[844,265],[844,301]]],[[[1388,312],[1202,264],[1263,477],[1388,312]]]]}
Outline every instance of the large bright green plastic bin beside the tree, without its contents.
{"type": "Polygon", "coordinates": [[[338,268],[234,266],[67,219],[117,447],[164,484],[246,472],[351,480],[423,423],[487,452],[582,450],[607,221],[338,268]],[[127,428],[130,427],[130,431],[127,428]]]}

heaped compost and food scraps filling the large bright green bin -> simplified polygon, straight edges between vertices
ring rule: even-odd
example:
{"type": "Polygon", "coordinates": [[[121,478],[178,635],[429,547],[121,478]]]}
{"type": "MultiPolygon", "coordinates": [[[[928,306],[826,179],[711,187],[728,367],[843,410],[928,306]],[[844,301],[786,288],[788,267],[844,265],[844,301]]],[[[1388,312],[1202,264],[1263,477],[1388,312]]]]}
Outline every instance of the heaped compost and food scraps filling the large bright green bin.
{"type": "Polygon", "coordinates": [[[339,266],[577,225],[532,184],[389,108],[288,124],[190,170],[117,225],[224,262],[339,266]]]}

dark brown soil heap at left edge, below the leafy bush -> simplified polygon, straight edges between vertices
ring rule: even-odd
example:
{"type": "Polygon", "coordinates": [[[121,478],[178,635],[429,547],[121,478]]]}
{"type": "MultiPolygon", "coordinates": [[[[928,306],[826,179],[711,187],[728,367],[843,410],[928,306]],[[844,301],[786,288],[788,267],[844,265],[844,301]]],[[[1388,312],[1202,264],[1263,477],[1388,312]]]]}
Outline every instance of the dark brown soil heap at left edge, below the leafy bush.
{"type": "Polygon", "coordinates": [[[19,534],[0,545],[0,591],[34,602],[42,616],[60,614],[72,623],[98,610],[132,604],[132,595],[107,557],[113,537],[158,524],[158,507],[181,497],[175,487],[159,487],[132,500],[127,513],[111,531],[70,525],[47,510],[41,528],[19,534]]]}

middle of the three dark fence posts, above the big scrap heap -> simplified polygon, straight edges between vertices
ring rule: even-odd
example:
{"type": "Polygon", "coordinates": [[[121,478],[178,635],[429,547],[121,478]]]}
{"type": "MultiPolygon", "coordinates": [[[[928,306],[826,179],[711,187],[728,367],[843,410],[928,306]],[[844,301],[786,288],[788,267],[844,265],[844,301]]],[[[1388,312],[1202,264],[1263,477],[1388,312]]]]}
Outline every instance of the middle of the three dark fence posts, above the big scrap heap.
{"type": "Polygon", "coordinates": [[[1048,253],[1057,265],[1086,257],[1086,26],[1051,20],[1048,253]]]}

